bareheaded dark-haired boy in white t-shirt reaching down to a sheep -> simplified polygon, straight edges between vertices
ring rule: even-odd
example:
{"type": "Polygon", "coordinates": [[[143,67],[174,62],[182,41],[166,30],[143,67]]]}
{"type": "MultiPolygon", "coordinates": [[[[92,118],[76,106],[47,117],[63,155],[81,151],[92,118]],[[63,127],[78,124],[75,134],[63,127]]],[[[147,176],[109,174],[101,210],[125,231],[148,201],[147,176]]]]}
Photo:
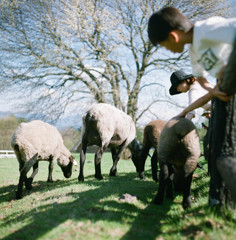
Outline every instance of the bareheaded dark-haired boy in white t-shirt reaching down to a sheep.
{"type": "Polygon", "coordinates": [[[219,174],[231,190],[232,197],[236,200],[236,188],[234,188],[236,172],[232,172],[233,168],[230,168],[230,164],[228,164],[230,162],[231,165],[234,163],[236,165],[236,134],[234,134],[236,132],[236,119],[232,117],[236,115],[236,107],[234,107],[236,101],[234,96],[229,96],[236,92],[235,35],[236,18],[211,17],[193,24],[178,9],[173,7],[166,7],[154,13],[148,23],[148,36],[154,45],[160,44],[172,52],[181,53],[185,45],[189,44],[192,73],[198,78],[201,86],[208,91],[206,95],[189,105],[178,116],[183,117],[216,97],[212,111],[214,120],[212,121],[213,136],[210,160],[212,166],[209,202],[211,205],[222,203],[220,196],[223,192],[223,184],[219,174]],[[225,66],[227,71],[224,74],[225,66]],[[206,80],[208,74],[218,79],[215,87],[212,87],[206,80]],[[227,87],[224,87],[225,85],[227,87]],[[230,88],[233,91],[230,91],[230,88]],[[230,101],[225,103],[219,99],[230,101]],[[225,155],[230,156],[230,159],[227,159],[225,155]],[[220,166],[218,169],[220,173],[216,164],[218,167],[220,166]],[[227,168],[227,171],[222,172],[222,168],[227,168]]]}

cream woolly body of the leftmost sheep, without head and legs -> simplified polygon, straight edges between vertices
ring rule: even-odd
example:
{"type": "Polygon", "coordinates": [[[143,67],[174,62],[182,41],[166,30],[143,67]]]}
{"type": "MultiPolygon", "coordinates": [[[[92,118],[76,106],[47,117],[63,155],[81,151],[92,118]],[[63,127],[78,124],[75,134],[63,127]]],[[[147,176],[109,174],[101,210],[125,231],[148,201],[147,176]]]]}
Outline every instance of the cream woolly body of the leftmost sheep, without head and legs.
{"type": "Polygon", "coordinates": [[[24,152],[27,159],[39,154],[40,159],[60,154],[63,139],[56,127],[40,120],[21,123],[12,136],[12,148],[24,152]]]}

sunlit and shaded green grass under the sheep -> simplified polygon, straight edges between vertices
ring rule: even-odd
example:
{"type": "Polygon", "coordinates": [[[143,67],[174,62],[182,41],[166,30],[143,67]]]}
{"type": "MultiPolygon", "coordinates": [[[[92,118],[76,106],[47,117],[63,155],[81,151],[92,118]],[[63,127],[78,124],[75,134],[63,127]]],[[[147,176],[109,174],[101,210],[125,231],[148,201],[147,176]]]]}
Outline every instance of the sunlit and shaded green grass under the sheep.
{"type": "MultiPolygon", "coordinates": [[[[79,155],[75,154],[77,160],[79,155]]],[[[139,180],[131,161],[120,160],[119,175],[110,177],[111,155],[102,159],[104,179],[94,178],[94,154],[87,154],[85,181],[78,171],[65,179],[58,166],[54,183],[47,183],[48,163],[40,162],[33,189],[24,188],[24,198],[15,200],[19,178],[16,159],[0,159],[0,239],[236,239],[236,212],[208,206],[207,164],[197,169],[192,183],[193,204],[181,206],[182,196],[154,205],[158,184],[151,179],[150,159],[146,180],[139,180]],[[123,194],[137,197],[122,201],[123,194]]]]}

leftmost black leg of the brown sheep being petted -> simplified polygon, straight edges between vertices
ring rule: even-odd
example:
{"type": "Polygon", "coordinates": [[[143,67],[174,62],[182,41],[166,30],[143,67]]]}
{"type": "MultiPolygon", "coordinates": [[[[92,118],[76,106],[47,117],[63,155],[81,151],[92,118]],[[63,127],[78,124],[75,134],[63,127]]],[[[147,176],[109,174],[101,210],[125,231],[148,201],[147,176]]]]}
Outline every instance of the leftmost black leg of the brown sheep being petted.
{"type": "Polygon", "coordinates": [[[168,166],[165,163],[160,163],[160,178],[157,195],[154,199],[155,204],[162,204],[164,200],[164,192],[168,184],[169,172],[168,166]]]}

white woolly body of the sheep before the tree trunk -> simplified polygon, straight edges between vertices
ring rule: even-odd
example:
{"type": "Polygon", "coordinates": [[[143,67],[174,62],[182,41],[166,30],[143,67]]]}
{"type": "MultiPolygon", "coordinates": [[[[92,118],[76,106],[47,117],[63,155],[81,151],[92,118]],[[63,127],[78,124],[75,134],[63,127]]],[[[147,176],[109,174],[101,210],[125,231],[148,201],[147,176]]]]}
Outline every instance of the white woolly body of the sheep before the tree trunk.
{"type": "Polygon", "coordinates": [[[125,140],[131,142],[135,134],[132,118],[109,104],[96,104],[83,116],[82,135],[86,135],[88,145],[118,146],[125,140]]]}

